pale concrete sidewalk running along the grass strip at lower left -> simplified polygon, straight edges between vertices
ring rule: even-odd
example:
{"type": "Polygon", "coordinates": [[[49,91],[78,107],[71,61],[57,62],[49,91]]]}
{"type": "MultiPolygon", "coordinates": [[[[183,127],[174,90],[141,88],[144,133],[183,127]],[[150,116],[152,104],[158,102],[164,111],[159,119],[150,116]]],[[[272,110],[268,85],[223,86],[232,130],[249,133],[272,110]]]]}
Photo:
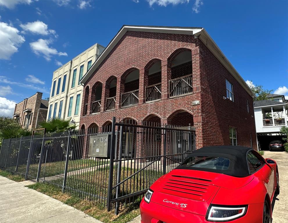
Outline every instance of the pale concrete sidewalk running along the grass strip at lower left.
{"type": "Polygon", "coordinates": [[[1,223],[102,223],[82,211],[0,176],[1,223]]]}

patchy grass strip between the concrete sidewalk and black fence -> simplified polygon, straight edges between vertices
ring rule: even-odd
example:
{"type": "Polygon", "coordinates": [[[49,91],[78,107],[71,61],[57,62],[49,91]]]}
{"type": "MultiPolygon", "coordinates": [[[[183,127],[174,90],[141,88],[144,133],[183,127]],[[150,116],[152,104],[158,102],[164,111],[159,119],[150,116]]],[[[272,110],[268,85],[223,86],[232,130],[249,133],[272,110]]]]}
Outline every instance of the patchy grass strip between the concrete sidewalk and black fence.
{"type": "Polygon", "coordinates": [[[118,215],[115,215],[114,211],[108,212],[105,206],[95,204],[91,201],[80,199],[77,196],[71,196],[50,184],[36,183],[27,186],[28,188],[37,190],[44,193],[54,199],[57,199],[69,206],[72,206],[80,211],[83,211],[87,215],[90,215],[97,220],[104,223],[115,222],[115,223],[126,223],[132,220],[134,217],[140,214],[139,208],[136,209],[122,209],[118,215]]]}

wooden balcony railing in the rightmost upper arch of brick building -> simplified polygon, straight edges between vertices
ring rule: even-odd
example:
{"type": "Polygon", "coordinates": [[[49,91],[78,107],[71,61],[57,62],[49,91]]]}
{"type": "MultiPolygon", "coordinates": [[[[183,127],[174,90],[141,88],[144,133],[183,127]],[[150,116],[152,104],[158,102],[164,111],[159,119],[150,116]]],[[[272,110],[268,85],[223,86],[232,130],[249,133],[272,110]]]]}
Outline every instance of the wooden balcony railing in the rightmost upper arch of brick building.
{"type": "Polygon", "coordinates": [[[192,75],[169,80],[169,96],[176,97],[193,92],[192,75]]]}

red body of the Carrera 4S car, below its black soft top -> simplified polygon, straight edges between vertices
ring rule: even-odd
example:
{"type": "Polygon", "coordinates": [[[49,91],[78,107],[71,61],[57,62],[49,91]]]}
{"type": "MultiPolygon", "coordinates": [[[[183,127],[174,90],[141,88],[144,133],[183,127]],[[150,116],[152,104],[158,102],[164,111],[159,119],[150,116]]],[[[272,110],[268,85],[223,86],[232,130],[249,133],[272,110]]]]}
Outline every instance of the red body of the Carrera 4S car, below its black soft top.
{"type": "MultiPolygon", "coordinates": [[[[237,147],[237,149],[241,148],[237,147]]],[[[245,149],[247,154],[249,151],[249,154],[255,152],[251,148],[245,149]]],[[[194,152],[192,156],[193,154],[194,152]]],[[[141,223],[271,222],[271,203],[276,189],[279,187],[277,164],[271,159],[265,160],[260,155],[258,159],[262,160],[262,165],[259,166],[260,163],[258,163],[259,169],[253,173],[250,173],[249,170],[249,174],[245,177],[235,177],[213,172],[213,170],[211,172],[210,170],[176,168],[170,171],[151,185],[149,191],[152,193],[151,196],[149,195],[149,203],[145,197],[142,199],[140,204],[141,223]],[[267,209],[265,207],[268,207],[267,204],[269,210],[265,211],[267,209]],[[211,216],[215,210],[221,212],[221,208],[228,208],[225,212],[228,214],[236,211],[235,213],[239,217],[232,220],[227,220],[225,217],[223,217],[224,220],[208,219],[209,215],[210,219],[213,218],[211,216]],[[232,212],[229,212],[230,209],[232,212]],[[269,216],[265,215],[268,211],[269,216]],[[269,218],[269,221],[267,219],[265,221],[265,218],[269,218]]],[[[247,165],[249,169],[248,162],[243,165],[247,165]]]]}

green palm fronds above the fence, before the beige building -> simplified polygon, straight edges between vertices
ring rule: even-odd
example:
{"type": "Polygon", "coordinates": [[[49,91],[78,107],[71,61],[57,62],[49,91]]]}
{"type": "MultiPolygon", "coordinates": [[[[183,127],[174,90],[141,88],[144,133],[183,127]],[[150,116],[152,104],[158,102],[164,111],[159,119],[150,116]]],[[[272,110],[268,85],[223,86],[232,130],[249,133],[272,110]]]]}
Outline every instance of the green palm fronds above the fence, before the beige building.
{"type": "Polygon", "coordinates": [[[45,128],[46,132],[66,132],[69,130],[74,130],[76,125],[70,124],[71,118],[50,118],[49,120],[42,121],[39,123],[39,128],[45,128]]]}

